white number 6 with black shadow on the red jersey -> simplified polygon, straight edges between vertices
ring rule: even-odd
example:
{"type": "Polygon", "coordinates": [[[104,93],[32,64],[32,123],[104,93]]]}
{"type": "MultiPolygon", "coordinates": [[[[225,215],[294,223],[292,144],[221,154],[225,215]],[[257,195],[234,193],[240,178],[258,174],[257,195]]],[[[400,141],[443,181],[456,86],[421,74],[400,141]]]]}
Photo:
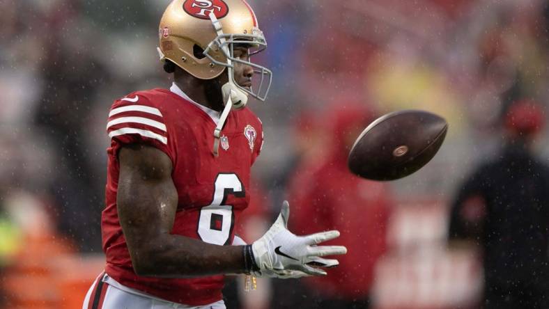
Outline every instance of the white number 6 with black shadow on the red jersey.
{"type": "Polygon", "coordinates": [[[233,206],[224,205],[229,194],[243,198],[244,185],[236,174],[220,173],[215,179],[212,203],[200,210],[198,233],[202,241],[208,244],[229,244],[234,225],[233,206]]]}

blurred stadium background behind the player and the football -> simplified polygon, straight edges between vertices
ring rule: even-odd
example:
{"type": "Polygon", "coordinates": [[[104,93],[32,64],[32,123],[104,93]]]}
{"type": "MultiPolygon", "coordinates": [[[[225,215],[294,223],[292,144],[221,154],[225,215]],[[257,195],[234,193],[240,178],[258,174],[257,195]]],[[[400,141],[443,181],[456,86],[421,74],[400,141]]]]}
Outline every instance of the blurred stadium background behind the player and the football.
{"type": "MultiPolygon", "coordinates": [[[[102,270],[107,114],[118,97],[171,84],[155,50],[168,3],[0,0],[0,308],[79,308],[102,270]]],[[[291,230],[338,227],[350,252],[321,280],[259,280],[248,293],[233,284],[228,308],[490,308],[484,270],[494,264],[483,259],[491,249],[477,228],[491,204],[459,196],[479,166],[517,140],[527,140],[527,162],[549,164],[549,1],[249,3],[268,41],[254,61],[275,78],[268,102],[249,104],[265,146],[239,228],[253,241],[289,198],[291,230]],[[535,107],[510,112],[525,101],[535,107]],[[399,109],[448,120],[440,152],[403,180],[350,175],[346,153],[360,129],[399,109]]],[[[537,175],[531,167],[524,171],[537,175]]],[[[541,218],[532,224],[546,263],[541,218]]],[[[516,230],[507,217],[496,221],[516,230]]],[[[520,272],[513,261],[495,272],[520,272]]],[[[528,276],[538,275],[521,280],[528,276]]]]}

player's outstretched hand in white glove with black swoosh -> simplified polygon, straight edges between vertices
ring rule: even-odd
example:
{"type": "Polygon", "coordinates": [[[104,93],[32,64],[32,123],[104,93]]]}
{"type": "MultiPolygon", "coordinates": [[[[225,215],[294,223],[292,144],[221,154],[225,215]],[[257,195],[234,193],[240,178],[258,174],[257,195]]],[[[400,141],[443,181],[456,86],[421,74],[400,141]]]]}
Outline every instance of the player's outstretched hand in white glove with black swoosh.
{"type": "Polygon", "coordinates": [[[277,221],[257,241],[252,244],[256,276],[277,278],[299,278],[301,276],[325,275],[318,267],[334,267],[337,260],[321,258],[325,255],[347,253],[344,246],[316,246],[321,242],[339,237],[339,231],[331,230],[313,235],[297,236],[288,230],[290,205],[287,201],[277,221]]]}

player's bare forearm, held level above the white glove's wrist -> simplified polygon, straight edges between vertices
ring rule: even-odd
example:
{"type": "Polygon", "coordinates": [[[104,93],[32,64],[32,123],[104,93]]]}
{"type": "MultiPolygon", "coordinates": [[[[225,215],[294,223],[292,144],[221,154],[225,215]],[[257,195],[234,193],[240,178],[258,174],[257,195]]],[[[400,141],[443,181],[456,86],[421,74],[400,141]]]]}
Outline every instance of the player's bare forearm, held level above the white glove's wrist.
{"type": "Polygon", "coordinates": [[[138,275],[189,278],[244,272],[242,246],[217,246],[179,235],[160,238],[132,253],[138,275]]]}

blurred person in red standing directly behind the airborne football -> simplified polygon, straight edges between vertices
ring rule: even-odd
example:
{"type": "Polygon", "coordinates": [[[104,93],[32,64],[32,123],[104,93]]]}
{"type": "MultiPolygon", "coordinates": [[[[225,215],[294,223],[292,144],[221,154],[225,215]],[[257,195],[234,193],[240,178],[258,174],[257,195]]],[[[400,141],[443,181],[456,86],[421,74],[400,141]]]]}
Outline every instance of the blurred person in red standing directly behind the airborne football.
{"type": "MultiPolygon", "coordinates": [[[[341,102],[346,102],[342,100],[341,102]]],[[[373,113],[358,104],[334,105],[325,119],[330,138],[320,147],[327,157],[297,168],[290,187],[291,226],[296,234],[339,230],[338,244],[350,254],[339,259],[329,276],[304,279],[312,296],[301,308],[368,308],[373,267],[385,252],[389,196],[381,182],[352,175],[347,156],[355,138],[373,120],[373,113]]]]}

